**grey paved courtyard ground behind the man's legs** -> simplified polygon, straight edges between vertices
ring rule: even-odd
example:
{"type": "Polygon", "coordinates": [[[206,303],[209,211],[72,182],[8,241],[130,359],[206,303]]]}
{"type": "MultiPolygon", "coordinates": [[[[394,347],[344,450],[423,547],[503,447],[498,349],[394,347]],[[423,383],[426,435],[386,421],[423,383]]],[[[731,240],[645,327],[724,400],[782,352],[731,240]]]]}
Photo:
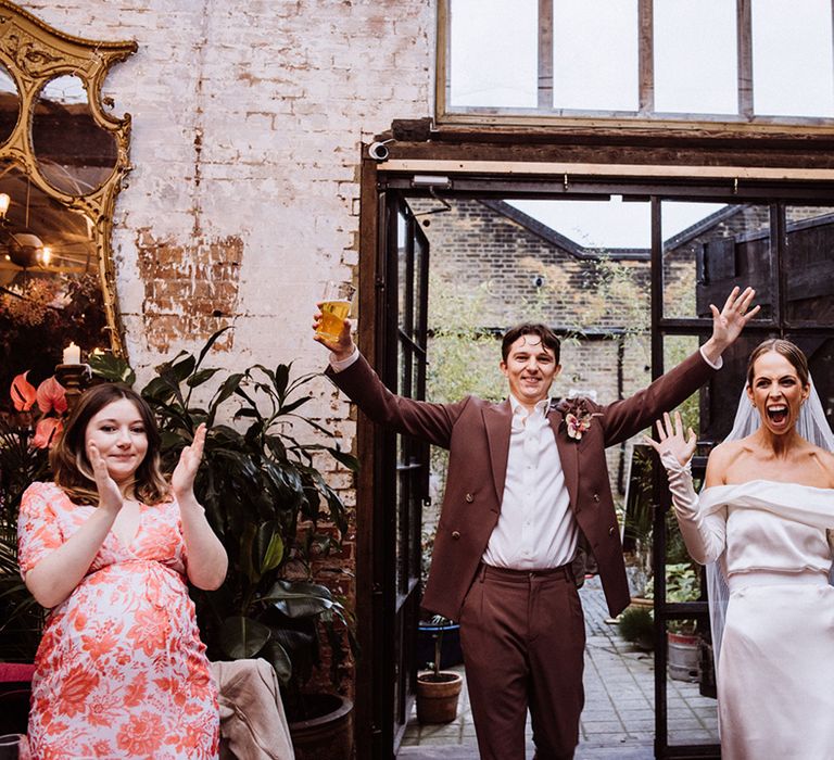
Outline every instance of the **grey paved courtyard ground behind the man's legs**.
{"type": "MultiPolygon", "coordinates": [[[[654,662],[650,654],[620,638],[607,610],[598,579],[581,592],[585,610],[585,709],[577,760],[648,760],[654,757],[654,662]]],[[[456,670],[463,672],[463,666],[456,670]]],[[[702,697],[698,684],[667,680],[669,743],[718,742],[716,700],[702,697]]],[[[528,723],[528,752],[532,742],[528,723]]],[[[445,725],[420,725],[413,717],[399,758],[477,760],[475,726],[466,689],[458,717],[445,725]]]]}

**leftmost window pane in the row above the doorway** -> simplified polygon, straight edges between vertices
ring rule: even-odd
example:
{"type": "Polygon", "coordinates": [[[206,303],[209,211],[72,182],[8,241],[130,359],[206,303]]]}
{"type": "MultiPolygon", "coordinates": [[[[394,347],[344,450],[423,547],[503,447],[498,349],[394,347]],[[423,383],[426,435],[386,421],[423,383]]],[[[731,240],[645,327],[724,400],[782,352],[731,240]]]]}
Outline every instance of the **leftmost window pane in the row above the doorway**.
{"type": "Polygon", "coordinates": [[[450,105],[534,107],[538,0],[450,0],[450,105]]]}

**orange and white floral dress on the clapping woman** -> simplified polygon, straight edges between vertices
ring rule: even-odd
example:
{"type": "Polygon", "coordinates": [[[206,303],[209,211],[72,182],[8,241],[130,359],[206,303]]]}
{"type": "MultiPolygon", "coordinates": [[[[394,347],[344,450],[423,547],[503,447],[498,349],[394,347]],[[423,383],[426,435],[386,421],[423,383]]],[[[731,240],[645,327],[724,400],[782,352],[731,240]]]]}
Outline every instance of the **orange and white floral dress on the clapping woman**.
{"type": "MultiPolygon", "coordinates": [[[[21,573],[93,509],[53,483],[30,485],[18,520],[21,573]]],[[[142,505],[127,546],[108,534],[84,580],[47,618],[31,682],[34,758],[217,757],[217,688],[187,562],[176,502],[142,505]]]]}

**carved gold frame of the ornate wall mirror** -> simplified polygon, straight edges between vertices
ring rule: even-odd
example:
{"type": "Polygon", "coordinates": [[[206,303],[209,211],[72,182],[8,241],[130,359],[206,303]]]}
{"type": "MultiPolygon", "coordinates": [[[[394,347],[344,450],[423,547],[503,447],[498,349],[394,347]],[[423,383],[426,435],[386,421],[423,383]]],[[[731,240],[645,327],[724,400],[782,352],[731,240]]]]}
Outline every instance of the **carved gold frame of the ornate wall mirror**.
{"type": "Polygon", "coordinates": [[[11,161],[21,166],[33,185],[67,210],[80,211],[92,221],[99,279],[104,311],[110,328],[111,350],[125,355],[124,332],[118,312],[116,279],[111,255],[111,233],[116,195],[123,177],[130,170],[130,114],[115,118],[105,113],[112,105],[102,102],[101,88],[110,67],[124,61],[138,49],[134,41],[103,42],[81,39],[59,31],[9,0],[0,0],[0,61],[17,85],[21,106],[17,124],[0,145],[0,162],[11,161]],[[67,195],[55,190],[42,177],[31,143],[31,121],[35,102],[43,85],[53,77],[74,75],[87,90],[90,113],[96,124],[111,132],[116,143],[116,162],[110,178],[85,195],[67,195]]]}

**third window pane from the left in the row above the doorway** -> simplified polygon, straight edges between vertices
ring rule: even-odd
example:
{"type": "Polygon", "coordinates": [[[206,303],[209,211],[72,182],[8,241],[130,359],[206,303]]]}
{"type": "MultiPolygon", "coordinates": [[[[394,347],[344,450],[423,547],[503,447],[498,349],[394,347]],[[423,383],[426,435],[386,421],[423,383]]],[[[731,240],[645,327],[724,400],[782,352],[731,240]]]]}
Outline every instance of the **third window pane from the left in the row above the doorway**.
{"type": "Polygon", "coordinates": [[[654,27],[655,111],[737,113],[735,3],[656,2],[654,27]]]}

